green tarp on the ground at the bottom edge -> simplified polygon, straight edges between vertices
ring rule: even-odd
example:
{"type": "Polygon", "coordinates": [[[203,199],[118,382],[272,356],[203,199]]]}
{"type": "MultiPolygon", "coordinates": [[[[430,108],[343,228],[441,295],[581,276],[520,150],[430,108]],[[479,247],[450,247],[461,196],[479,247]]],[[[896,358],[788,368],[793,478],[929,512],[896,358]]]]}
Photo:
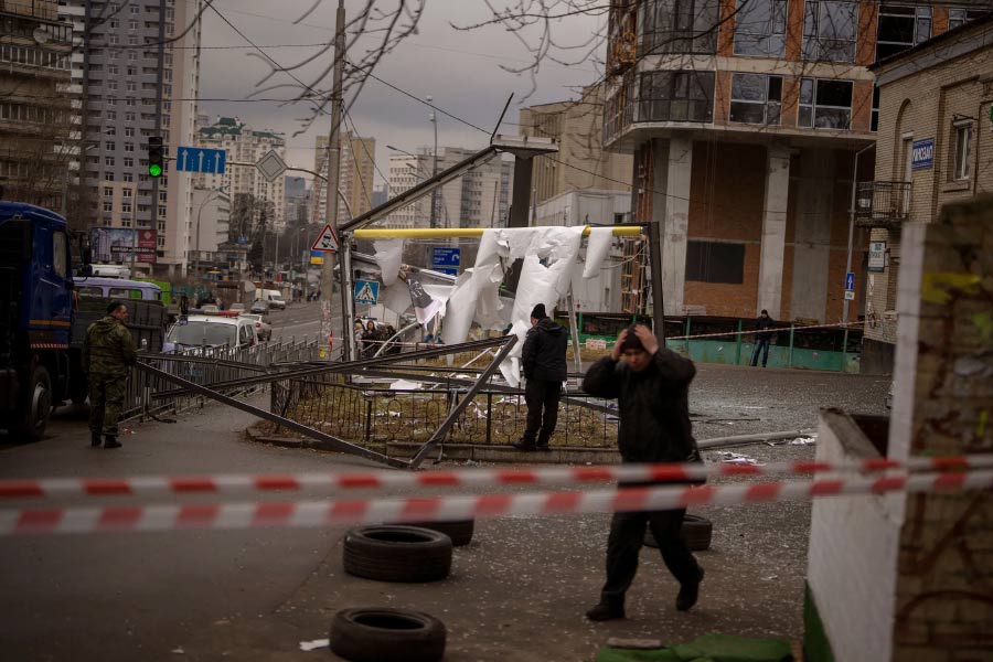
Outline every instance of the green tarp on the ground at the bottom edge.
{"type": "Polygon", "coordinates": [[[780,639],[704,634],[690,643],[656,650],[605,647],[596,662],[792,662],[790,644],[780,639]]]}

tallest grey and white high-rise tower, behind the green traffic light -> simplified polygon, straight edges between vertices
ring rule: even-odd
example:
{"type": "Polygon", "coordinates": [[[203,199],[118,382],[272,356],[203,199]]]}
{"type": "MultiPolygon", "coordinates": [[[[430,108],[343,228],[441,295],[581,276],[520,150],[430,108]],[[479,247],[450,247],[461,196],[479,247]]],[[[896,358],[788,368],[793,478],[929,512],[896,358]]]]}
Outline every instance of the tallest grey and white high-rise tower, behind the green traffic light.
{"type": "MultiPolygon", "coordinates": [[[[82,68],[83,185],[90,224],[157,232],[156,270],[185,273],[192,249],[191,175],[167,162],[148,175],[148,138],[175,153],[193,145],[200,87],[201,0],[64,0],[74,22],[82,68]],[[173,41],[174,40],[174,41],[173,41]]],[[[79,57],[74,57],[74,65],[79,57]]]]}

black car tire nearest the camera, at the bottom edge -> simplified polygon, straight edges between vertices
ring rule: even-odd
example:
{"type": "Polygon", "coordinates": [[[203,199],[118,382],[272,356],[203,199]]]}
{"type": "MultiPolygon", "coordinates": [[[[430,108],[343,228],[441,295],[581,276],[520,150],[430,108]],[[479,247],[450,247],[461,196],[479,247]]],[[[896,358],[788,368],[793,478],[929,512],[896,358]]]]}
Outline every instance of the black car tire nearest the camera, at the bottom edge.
{"type": "Polygon", "coordinates": [[[388,607],[342,609],[331,619],[331,651],[352,662],[436,662],[445,655],[445,624],[388,607]]]}

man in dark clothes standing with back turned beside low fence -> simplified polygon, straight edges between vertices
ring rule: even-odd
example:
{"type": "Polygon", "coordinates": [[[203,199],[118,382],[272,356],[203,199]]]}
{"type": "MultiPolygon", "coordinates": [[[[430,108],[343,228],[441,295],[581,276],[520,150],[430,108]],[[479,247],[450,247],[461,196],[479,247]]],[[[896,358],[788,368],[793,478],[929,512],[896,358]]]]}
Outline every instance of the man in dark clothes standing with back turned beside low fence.
{"type": "Polygon", "coordinates": [[[565,329],[545,314],[545,305],[531,311],[531,329],[521,350],[524,370],[524,402],[527,404],[527,427],[517,450],[548,450],[548,440],[558,421],[558,399],[567,370],[565,351],[568,344],[565,329]],[[544,413],[542,412],[544,409],[544,413]]]}

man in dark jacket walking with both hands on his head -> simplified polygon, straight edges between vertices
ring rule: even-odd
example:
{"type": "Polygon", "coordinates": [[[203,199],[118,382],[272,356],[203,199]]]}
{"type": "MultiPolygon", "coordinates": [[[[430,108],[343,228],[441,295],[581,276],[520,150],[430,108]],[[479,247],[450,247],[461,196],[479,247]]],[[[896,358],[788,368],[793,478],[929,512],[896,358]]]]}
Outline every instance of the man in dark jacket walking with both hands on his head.
{"type": "MultiPolygon", "coordinates": [[[[617,445],[622,461],[684,462],[698,453],[687,402],[695,374],[692,361],[660,348],[648,327],[636,324],[621,331],[610,356],[590,366],[583,391],[617,398],[617,445]]],[[[665,567],[680,583],[676,609],[686,611],[696,604],[704,573],[681,536],[685,512],[613,514],[607,540],[607,581],[599,604],[586,612],[588,619],[624,617],[624,594],[638,570],[645,523],[659,543],[665,567]]]]}

